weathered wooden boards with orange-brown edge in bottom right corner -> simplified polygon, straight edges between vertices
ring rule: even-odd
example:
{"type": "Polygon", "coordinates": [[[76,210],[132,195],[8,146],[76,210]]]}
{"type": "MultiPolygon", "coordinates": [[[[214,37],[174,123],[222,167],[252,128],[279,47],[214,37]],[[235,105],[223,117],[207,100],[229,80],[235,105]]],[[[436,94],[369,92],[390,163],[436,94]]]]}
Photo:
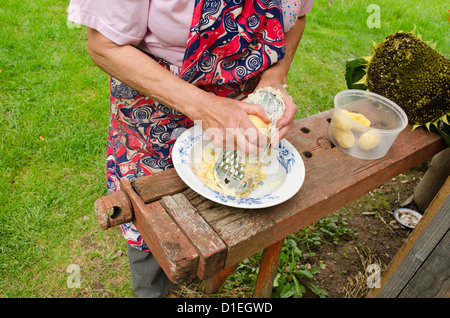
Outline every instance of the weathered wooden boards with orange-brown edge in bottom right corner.
{"type": "Polygon", "coordinates": [[[450,177],[369,298],[446,297],[450,284],[450,177]],[[442,295],[443,294],[443,295],[442,295]]]}

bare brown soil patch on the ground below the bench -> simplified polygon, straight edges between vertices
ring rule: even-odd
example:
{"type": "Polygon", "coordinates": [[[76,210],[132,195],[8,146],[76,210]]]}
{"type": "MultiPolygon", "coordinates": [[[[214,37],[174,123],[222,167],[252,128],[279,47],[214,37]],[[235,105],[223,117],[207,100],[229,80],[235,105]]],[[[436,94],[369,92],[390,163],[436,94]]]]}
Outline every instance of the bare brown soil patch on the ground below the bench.
{"type": "MultiPolygon", "coordinates": [[[[328,297],[361,298],[369,286],[376,287],[375,269],[382,274],[411,233],[395,220],[393,212],[413,195],[426,167],[421,164],[335,212],[346,218],[354,233],[341,237],[338,244],[321,244],[314,250],[315,260],[324,268],[312,281],[327,290],[328,297]]],[[[417,209],[414,203],[408,207],[417,209]]],[[[303,297],[317,295],[307,291],[303,297]]]]}

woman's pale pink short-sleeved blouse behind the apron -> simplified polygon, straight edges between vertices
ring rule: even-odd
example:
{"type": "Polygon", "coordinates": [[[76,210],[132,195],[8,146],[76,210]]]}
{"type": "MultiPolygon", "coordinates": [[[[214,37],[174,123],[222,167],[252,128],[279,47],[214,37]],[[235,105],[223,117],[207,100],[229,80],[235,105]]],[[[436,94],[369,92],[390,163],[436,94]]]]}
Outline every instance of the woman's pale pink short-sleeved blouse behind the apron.
{"type": "MultiPolygon", "coordinates": [[[[301,2],[282,2],[285,31],[311,11],[314,0],[301,2]]],[[[71,0],[68,19],[181,66],[193,10],[193,0],[71,0]]]]}

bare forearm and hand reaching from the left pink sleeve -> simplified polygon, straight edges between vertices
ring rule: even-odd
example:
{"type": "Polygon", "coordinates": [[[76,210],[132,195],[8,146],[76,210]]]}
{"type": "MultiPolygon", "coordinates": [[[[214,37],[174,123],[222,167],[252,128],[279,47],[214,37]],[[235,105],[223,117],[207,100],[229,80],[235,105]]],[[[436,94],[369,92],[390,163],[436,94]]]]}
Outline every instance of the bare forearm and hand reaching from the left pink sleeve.
{"type": "Polygon", "coordinates": [[[117,45],[93,29],[88,29],[88,48],[94,63],[105,73],[196,121],[215,146],[234,146],[255,154],[267,143],[267,137],[246,116],[254,114],[269,121],[262,106],[207,93],[183,81],[137,48],[117,45]],[[249,129],[255,131],[252,138],[244,135],[249,129]]]}

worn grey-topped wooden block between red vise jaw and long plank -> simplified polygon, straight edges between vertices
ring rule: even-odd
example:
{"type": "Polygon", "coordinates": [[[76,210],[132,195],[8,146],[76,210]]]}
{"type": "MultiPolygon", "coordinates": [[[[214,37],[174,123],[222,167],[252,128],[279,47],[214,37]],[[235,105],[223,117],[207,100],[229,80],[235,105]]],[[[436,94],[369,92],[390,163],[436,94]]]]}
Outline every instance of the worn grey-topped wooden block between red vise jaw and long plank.
{"type": "Polygon", "coordinates": [[[199,254],[197,276],[206,279],[224,268],[226,245],[182,194],[160,200],[199,254]]]}

